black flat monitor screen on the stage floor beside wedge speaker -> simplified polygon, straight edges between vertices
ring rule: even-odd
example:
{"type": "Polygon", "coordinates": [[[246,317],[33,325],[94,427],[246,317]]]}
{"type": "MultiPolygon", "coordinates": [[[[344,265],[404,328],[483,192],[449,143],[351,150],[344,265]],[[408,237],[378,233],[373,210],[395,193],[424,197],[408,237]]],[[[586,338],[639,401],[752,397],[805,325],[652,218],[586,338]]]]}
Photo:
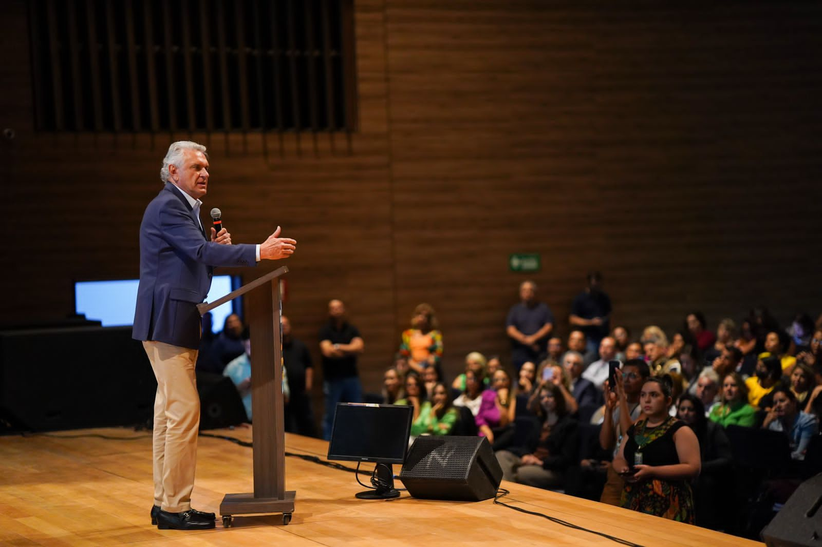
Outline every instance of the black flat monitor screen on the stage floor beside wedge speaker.
{"type": "Polygon", "coordinates": [[[338,403],[331,428],[328,459],[404,463],[412,416],[413,407],[338,403]]]}

